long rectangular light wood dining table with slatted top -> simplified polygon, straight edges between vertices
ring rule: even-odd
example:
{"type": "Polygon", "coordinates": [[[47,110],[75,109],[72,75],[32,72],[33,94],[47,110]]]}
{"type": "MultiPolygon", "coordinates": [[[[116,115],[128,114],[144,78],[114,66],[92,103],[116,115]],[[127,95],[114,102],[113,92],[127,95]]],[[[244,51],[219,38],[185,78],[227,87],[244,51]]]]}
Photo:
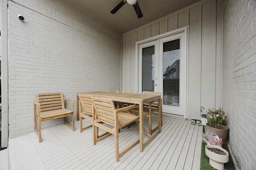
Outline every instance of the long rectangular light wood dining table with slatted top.
{"type": "Polygon", "coordinates": [[[91,95],[94,97],[103,97],[112,99],[115,102],[123,102],[130,104],[139,105],[139,127],[140,127],[140,152],[143,152],[143,149],[152,141],[158,133],[161,132],[161,123],[162,123],[162,102],[160,95],[152,94],[126,94],[126,93],[112,93],[112,92],[80,92],[77,93],[77,120],[79,120],[79,96],[78,94],[91,95]],[[148,104],[150,102],[158,102],[160,109],[158,111],[158,129],[150,135],[150,133],[143,126],[143,104],[148,104]],[[148,140],[144,142],[144,135],[146,133],[148,140]]]}

